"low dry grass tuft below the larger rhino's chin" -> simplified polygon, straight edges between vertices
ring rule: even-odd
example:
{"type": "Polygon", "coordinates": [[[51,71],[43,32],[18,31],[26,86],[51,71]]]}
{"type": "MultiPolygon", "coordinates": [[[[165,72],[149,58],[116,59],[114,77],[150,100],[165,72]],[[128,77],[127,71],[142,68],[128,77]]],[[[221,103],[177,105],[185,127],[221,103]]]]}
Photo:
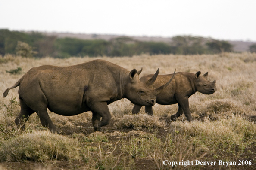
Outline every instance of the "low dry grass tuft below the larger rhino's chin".
{"type": "Polygon", "coordinates": [[[158,116],[150,116],[147,114],[139,115],[124,115],[122,119],[114,123],[114,126],[117,129],[124,127],[133,127],[133,128],[152,128],[152,127],[165,127],[165,121],[160,121],[158,116]]]}

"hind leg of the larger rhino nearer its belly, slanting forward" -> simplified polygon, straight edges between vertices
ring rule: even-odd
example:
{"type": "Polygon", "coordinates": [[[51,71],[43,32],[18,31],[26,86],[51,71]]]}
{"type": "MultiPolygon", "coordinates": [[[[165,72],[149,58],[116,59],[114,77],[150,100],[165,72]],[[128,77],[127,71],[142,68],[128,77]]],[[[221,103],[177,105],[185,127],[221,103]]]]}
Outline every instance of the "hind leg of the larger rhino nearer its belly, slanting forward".
{"type": "Polygon", "coordinates": [[[42,109],[40,111],[37,111],[37,115],[40,118],[41,124],[44,127],[48,127],[50,129],[51,132],[56,133],[56,127],[54,126],[53,122],[51,121],[46,108],[42,109]]]}

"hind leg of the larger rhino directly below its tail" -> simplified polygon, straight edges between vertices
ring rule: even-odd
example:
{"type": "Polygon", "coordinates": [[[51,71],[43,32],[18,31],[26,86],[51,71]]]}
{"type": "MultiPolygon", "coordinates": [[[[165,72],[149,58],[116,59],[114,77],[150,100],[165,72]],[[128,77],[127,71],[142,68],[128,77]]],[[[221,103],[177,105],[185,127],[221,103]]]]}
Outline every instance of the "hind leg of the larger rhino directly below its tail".
{"type": "Polygon", "coordinates": [[[25,102],[22,100],[22,98],[19,99],[19,103],[20,103],[21,111],[19,112],[19,115],[15,119],[15,124],[21,130],[25,130],[25,123],[26,121],[28,121],[29,116],[34,113],[34,110],[28,107],[25,104],[25,102]]]}

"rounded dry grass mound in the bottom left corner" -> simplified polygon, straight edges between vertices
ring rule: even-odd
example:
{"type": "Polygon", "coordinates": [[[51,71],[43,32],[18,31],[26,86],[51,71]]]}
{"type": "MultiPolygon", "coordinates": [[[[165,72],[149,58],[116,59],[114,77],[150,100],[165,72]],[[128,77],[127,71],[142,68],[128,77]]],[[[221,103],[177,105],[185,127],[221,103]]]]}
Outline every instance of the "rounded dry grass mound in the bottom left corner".
{"type": "Polygon", "coordinates": [[[79,158],[77,140],[49,131],[22,134],[3,141],[0,146],[0,161],[68,161],[79,158]]]}

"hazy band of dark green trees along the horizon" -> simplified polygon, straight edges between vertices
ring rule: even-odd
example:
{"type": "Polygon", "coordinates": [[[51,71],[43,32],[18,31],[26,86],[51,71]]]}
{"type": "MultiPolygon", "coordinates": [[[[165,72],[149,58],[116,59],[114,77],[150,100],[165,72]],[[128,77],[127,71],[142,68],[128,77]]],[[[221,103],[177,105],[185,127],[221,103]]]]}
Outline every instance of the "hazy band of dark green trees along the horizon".
{"type": "Polygon", "coordinates": [[[194,36],[175,36],[172,38],[172,43],[163,43],[141,42],[129,37],[119,37],[110,41],[57,38],[38,32],[0,30],[0,55],[2,56],[10,53],[24,57],[68,58],[70,56],[133,56],[143,53],[192,55],[232,51],[233,46],[227,41],[194,36]]]}

